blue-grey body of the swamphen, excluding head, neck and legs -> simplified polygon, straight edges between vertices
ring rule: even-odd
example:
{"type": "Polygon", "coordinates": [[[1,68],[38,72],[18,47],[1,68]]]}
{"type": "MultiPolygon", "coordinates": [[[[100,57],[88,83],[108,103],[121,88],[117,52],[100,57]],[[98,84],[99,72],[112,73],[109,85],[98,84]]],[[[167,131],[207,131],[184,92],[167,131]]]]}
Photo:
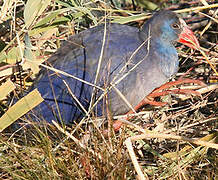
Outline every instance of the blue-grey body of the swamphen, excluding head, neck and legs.
{"type": "MultiPolygon", "coordinates": [[[[134,27],[107,24],[105,29],[104,25],[100,25],[72,36],[48,59],[48,64],[94,84],[101,61],[95,85],[105,90],[115,85],[125,98],[113,87],[105,97],[112,113],[122,114],[130,109],[124,99],[134,107],[167,80],[155,61],[149,59],[151,55],[147,53],[148,42],[145,39],[140,39],[139,30],[134,27]]],[[[92,96],[93,86],[86,82],[43,69],[32,87],[38,88],[45,99],[35,108],[35,114],[47,122],[56,119],[70,124],[80,119],[85,113],[75,97],[88,110],[91,97],[96,102],[105,92],[96,88],[92,96]]],[[[97,115],[104,114],[105,104],[102,99],[99,101],[95,107],[97,115]]]]}

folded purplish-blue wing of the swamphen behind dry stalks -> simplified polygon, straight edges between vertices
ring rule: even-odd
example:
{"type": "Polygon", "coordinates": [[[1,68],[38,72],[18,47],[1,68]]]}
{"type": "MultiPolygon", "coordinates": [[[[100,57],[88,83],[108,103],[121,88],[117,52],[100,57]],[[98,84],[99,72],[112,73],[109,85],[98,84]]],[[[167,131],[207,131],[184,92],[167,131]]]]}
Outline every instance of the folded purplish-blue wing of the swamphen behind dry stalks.
{"type": "MultiPolygon", "coordinates": [[[[96,85],[105,88],[105,85],[110,84],[111,80],[119,79],[125,72],[125,68],[124,71],[121,69],[140,45],[140,41],[137,28],[108,24],[106,36],[104,36],[104,31],[104,26],[98,26],[72,36],[64,42],[57,53],[48,60],[48,63],[58,70],[94,84],[96,70],[102,55],[100,78],[96,85]],[[104,48],[102,48],[103,44],[104,48]]],[[[132,76],[132,82],[135,82],[135,77],[132,76]]],[[[125,81],[121,81],[118,85],[121,87],[121,91],[127,90],[125,81]]],[[[33,86],[33,88],[38,88],[45,98],[45,102],[37,108],[37,111],[40,109],[42,114],[46,116],[46,120],[49,121],[53,118],[52,113],[50,113],[51,109],[58,116],[58,103],[59,112],[66,123],[81,116],[81,108],[77,108],[79,105],[69,93],[69,89],[87,110],[93,86],[86,82],[43,69],[33,86]]],[[[134,84],[132,85],[134,86],[134,84]]],[[[97,97],[103,93],[101,90],[98,92],[97,97]]],[[[118,95],[112,94],[112,96],[118,95]]]]}

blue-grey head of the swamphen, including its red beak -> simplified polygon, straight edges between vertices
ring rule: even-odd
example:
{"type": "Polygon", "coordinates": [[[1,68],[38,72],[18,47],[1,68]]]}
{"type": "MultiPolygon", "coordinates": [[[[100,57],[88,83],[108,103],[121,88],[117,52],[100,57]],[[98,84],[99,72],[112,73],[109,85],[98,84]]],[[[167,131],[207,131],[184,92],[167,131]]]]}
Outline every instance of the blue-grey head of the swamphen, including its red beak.
{"type": "Polygon", "coordinates": [[[199,49],[200,45],[194,33],[185,23],[177,16],[176,13],[168,10],[162,10],[155,13],[142,27],[141,36],[151,39],[157,39],[164,43],[173,43],[178,41],[192,49],[199,49]]]}

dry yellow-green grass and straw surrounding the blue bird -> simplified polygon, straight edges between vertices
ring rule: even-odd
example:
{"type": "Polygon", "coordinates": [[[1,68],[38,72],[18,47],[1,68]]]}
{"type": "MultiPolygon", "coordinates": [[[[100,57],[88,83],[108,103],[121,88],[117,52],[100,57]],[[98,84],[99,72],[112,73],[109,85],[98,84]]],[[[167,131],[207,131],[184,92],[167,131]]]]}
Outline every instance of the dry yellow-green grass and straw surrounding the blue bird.
{"type": "MultiPolygon", "coordinates": [[[[48,0],[42,6],[40,2],[0,4],[0,83],[11,79],[16,87],[4,87],[10,94],[0,96],[2,115],[10,108],[11,99],[31,86],[39,70],[38,65],[25,63],[23,55],[39,64],[60,47],[62,40],[104,23],[105,18],[140,26],[153,10],[142,11],[142,4],[134,10],[131,1],[110,4],[48,0]],[[27,30],[30,38],[25,40],[27,30]],[[23,71],[12,71],[17,61],[23,62],[23,71]]],[[[211,7],[217,4],[211,1],[208,5],[203,0],[186,3],[190,7],[182,8],[176,1],[155,4],[161,8],[180,7],[179,12],[189,17],[186,20],[195,27],[202,49],[216,67],[218,37],[213,18],[217,15],[211,7]]],[[[137,163],[145,179],[217,179],[217,76],[200,52],[190,52],[183,46],[178,52],[180,70],[174,79],[200,79],[208,87],[188,84],[176,88],[196,89],[201,97],[161,97],[169,105],[144,107],[119,133],[111,130],[108,138],[101,133],[106,127],[92,122],[63,129],[59,125],[30,126],[29,117],[22,116],[20,129],[9,127],[1,132],[0,179],[140,179],[137,163]],[[141,131],[152,137],[143,136],[141,131]]]]}

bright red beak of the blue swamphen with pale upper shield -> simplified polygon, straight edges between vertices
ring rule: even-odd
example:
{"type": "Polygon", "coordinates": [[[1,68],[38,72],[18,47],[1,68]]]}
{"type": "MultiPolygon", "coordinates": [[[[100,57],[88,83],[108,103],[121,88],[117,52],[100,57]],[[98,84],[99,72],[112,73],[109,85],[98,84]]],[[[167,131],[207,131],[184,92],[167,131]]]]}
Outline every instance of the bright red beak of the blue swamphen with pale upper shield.
{"type": "Polygon", "coordinates": [[[200,49],[199,42],[195,37],[194,33],[191,29],[189,29],[188,25],[185,23],[183,19],[180,19],[180,22],[183,26],[183,30],[179,35],[178,42],[192,48],[192,49],[200,49]]]}

